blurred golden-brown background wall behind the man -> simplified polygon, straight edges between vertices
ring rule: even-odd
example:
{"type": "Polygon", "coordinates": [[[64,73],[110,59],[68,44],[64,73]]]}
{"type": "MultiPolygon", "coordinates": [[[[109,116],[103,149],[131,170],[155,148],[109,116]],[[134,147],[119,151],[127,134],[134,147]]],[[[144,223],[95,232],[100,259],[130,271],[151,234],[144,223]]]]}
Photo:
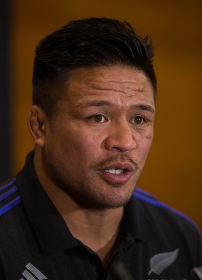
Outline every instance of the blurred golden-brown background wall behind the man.
{"type": "Polygon", "coordinates": [[[70,20],[110,17],[149,34],[158,78],[155,137],[138,186],[182,211],[202,230],[202,1],[1,0],[0,180],[34,147],[27,129],[39,40],[70,20]]]}

